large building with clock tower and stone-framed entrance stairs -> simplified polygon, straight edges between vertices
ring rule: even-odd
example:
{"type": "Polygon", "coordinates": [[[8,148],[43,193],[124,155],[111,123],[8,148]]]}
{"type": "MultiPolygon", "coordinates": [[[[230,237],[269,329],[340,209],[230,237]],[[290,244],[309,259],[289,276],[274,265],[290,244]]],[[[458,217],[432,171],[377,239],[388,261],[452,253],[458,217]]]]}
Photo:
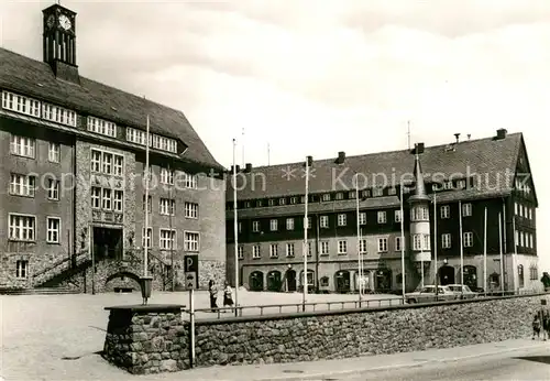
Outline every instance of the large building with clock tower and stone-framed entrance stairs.
{"type": "Polygon", "coordinates": [[[43,20],[43,62],[0,48],[0,286],[136,280],[145,207],[157,290],[183,283],[186,253],[201,286],[221,282],[223,167],[183,112],[78,74],[75,12],[55,4],[43,20]]]}

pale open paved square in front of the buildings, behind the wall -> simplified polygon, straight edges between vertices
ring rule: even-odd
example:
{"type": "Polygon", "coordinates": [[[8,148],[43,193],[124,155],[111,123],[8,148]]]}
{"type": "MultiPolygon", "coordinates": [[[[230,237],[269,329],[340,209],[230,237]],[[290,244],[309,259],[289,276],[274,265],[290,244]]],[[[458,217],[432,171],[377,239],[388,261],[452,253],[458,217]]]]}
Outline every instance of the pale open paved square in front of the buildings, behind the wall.
{"type": "MultiPolygon", "coordinates": [[[[395,295],[369,297],[399,298],[395,295]]],[[[358,295],[308,295],[308,302],[356,300],[358,295]]],[[[207,292],[197,292],[195,301],[197,308],[209,306],[207,292]]],[[[239,293],[241,305],[300,302],[299,293],[239,293]]],[[[160,292],[153,294],[150,303],[188,306],[189,298],[186,292],[160,292]]],[[[108,380],[128,377],[127,372],[111,367],[96,355],[103,349],[106,337],[109,313],[103,307],[128,304],[141,304],[141,294],[0,295],[0,377],[7,380],[108,380]]],[[[278,311],[265,313],[275,312],[278,311]]],[[[253,313],[246,312],[249,315],[253,313]]],[[[212,318],[216,314],[198,314],[198,318],[204,317],[212,318]]]]}

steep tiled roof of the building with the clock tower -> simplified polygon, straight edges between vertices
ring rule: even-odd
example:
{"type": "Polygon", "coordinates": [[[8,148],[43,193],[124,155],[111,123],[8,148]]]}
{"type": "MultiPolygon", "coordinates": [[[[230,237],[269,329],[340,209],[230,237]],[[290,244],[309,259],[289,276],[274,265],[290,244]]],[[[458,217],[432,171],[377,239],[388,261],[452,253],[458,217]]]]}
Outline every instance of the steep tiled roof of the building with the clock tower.
{"type": "Polygon", "coordinates": [[[85,77],[80,86],[57,79],[46,63],[4,48],[0,48],[0,88],[141,129],[148,113],[151,132],[179,139],[188,146],[182,159],[223,170],[182,111],[143,97],[85,77]]]}

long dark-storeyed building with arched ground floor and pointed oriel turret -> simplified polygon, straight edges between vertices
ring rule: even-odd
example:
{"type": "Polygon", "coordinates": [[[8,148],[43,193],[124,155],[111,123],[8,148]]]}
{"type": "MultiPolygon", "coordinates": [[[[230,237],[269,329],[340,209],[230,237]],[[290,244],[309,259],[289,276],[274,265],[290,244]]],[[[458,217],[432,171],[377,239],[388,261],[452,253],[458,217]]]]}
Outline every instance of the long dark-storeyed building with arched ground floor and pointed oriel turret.
{"type": "MultiPolygon", "coordinates": [[[[239,283],[250,290],[299,290],[304,254],[308,284],[319,291],[355,292],[361,282],[370,292],[400,292],[402,254],[406,291],[435,282],[540,287],[538,202],[521,133],[308,161],[307,246],[305,162],[238,168],[239,283]]],[[[227,220],[234,282],[232,181],[227,220]]]]}

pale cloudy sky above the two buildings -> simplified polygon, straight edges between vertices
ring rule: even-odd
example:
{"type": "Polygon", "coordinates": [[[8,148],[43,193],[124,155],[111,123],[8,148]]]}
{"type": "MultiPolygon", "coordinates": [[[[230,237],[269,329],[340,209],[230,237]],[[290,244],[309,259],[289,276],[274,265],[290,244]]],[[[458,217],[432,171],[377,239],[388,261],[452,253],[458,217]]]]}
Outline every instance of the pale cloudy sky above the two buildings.
{"type": "MultiPolygon", "coordinates": [[[[0,1],[0,43],[42,59],[42,9],[0,1]]],[[[183,110],[223,165],[525,134],[550,270],[549,0],[62,1],[80,74],[183,110]],[[242,129],[245,131],[241,139],[242,129]],[[238,153],[242,162],[241,148],[238,153]]]]}

